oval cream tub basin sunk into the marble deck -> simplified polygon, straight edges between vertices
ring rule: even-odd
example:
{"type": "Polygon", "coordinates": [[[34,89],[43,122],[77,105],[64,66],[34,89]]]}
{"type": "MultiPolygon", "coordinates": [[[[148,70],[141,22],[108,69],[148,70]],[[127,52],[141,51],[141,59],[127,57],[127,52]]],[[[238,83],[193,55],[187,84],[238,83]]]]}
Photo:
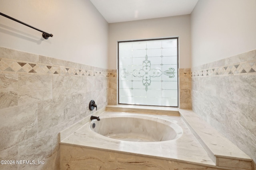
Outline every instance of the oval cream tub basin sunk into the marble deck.
{"type": "Polygon", "coordinates": [[[170,141],[183,134],[182,128],[172,121],[141,115],[100,117],[100,121],[91,122],[90,128],[100,135],[132,142],[170,141]]]}

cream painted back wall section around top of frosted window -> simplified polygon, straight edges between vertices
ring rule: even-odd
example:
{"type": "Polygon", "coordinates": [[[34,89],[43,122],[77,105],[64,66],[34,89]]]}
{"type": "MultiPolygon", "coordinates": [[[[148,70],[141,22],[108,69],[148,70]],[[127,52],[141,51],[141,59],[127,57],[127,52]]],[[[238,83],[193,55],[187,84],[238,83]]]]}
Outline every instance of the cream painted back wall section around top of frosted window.
{"type": "Polygon", "coordinates": [[[190,68],[190,15],[109,24],[108,67],[117,69],[117,42],[179,37],[180,68],[190,68]]]}

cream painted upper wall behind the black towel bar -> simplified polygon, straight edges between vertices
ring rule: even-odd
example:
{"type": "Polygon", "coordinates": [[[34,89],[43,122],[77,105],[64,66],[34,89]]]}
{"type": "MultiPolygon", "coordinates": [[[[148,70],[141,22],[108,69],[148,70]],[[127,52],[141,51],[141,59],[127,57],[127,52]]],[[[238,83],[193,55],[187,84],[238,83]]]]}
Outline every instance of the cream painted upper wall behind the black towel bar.
{"type": "Polygon", "coordinates": [[[42,33],[0,16],[0,47],[100,68],[108,67],[108,23],[90,0],[0,0],[0,12],[42,33]]]}

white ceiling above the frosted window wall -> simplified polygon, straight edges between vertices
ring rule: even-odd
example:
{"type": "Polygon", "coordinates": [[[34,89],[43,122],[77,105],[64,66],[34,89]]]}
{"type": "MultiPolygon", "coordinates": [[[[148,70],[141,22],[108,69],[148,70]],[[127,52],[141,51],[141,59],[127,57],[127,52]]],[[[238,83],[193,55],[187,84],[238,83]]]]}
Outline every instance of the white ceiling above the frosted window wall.
{"type": "Polygon", "coordinates": [[[90,0],[108,23],[190,14],[198,0],[90,0]]]}

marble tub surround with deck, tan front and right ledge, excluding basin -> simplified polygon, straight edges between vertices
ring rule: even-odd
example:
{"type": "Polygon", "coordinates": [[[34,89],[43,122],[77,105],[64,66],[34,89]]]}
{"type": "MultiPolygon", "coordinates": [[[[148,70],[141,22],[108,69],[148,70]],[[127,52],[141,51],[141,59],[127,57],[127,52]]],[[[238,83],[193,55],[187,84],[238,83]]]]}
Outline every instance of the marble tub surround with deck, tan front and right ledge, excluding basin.
{"type": "MultiPolygon", "coordinates": [[[[122,106],[117,106],[117,109],[120,109],[120,107],[122,106]]],[[[145,108],[147,106],[140,107],[145,108]]],[[[137,114],[118,112],[117,109],[113,109],[114,106],[107,106],[106,108],[107,111],[103,112],[100,116],[111,117],[115,114],[137,114]],[[111,109],[113,109],[114,112],[110,111],[111,109]]],[[[163,169],[168,169],[170,167],[193,167],[195,169],[212,168],[252,170],[252,160],[250,157],[234,144],[230,143],[230,141],[228,145],[223,144],[221,141],[227,142],[228,140],[224,136],[220,135],[217,131],[214,131],[214,129],[212,129],[210,126],[206,126],[207,124],[205,124],[203,120],[196,117],[196,114],[193,111],[180,109],[179,111],[181,116],[149,115],[146,114],[146,111],[154,114],[155,110],[152,108],[144,110],[144,114],[148,115],[150,119],[160,118],[175,121],[182,127],[184,131],[182,137],[172,141],[162,141],[156,143],[133,143],[110,139],[99,134],[95,135],[94,132],[88,131],[88,129],[83,126],[75,133],[72,133],[70,136],[61,141],[61,168],[64,169],[68,164],[70,168],[75,167],[75,169],[81,169],[84,166],[88,167],[88,164],[93,164],[96,165],[96,167],[101,166],[102,168],[130,168],[137,165],[142,169],[146,169],[147,165],[149,165],[163,169]],[[185,121],[183,121],[182,118],[185,119],[185,121]],[[185,122],[194,130],[191,131],[185,122]],[[200,125],[202,125],[204,128],[200,129],[200,125]],[[211,133],[209,133],[209,131],[211,133]],[[194,135],[192,132],[198,134],[194,135]],[[198,139],[201,137],[201,142],[205,142],[205,145],[201,145],[198,142],[198,139]],[[214,138],[217,138],[218,141],[216,141],[214,138]],[[205,149],[205,147],[213,150],[213,153],[209,154],[207,148],[205,149]],[[219,150],[219,148],[221,148],[221,150],[219,150]],[[125,158],[127,161],[124,160],[125,158]]],[[[92,169],[97,169],[96,167],[92,169]]]]}

